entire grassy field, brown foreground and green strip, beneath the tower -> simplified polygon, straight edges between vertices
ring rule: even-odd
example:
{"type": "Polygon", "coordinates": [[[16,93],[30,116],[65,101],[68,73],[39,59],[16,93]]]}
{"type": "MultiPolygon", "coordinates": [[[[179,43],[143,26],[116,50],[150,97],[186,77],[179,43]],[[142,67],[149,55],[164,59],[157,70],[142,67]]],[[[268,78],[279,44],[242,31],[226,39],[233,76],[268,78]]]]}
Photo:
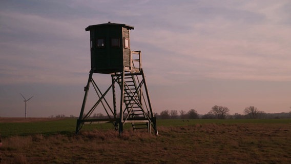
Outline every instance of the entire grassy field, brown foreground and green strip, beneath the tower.
{"type": "Polygon", "coordinates": [[[2,163],[290,163],[291,119],[157,120],[159,136],[0,118],[2,163]]]}

